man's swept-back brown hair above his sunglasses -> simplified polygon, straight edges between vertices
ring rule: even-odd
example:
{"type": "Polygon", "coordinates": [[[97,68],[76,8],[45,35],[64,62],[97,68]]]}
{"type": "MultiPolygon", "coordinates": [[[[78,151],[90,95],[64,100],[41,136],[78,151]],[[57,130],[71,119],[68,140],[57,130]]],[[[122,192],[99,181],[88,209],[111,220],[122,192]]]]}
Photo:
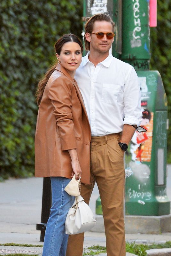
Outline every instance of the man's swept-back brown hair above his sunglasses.
{"type": "MultiPolygon", "coordinates": [[[[97,13],[95,14],[94,16],[92,16],[85,24],[85,34],[86,33],[89,33],[91,34],[92,31],[93,31],[93,25],[94,25],[94,22],[95,21],[108,21],[112,24],[112,28],[113,28],[113,33],[114,33],[114,27],[115,27],[115,23],[113,22],[113,20],[111,19],[111,17],[105,13],[97,13]]],[[[85,34],[84,34],[84,41],[85,41],[85,49],[87,51],[90,50],[90,43],[89,41],[87,41],[86,37],[85,37],[85,34]]]]}

